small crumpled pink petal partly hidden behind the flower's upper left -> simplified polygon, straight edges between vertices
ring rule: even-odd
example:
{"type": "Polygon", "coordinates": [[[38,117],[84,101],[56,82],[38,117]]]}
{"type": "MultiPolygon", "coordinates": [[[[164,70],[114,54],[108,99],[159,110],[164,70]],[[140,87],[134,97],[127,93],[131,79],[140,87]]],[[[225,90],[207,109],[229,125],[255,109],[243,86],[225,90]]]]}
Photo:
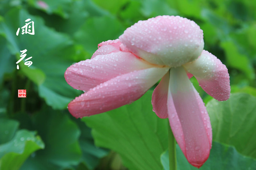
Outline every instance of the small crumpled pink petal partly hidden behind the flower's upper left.
{"type": "Polygon", "coordinates": [[[111,52],[118,52],[120,51],[119,46],[121,44],[122,43],[119,41],[119,39],[103,41],[100,44],[98,44],[98,49],[93,53],[92,58],[94,58],[97,55],[105,55],[111,52]]]}

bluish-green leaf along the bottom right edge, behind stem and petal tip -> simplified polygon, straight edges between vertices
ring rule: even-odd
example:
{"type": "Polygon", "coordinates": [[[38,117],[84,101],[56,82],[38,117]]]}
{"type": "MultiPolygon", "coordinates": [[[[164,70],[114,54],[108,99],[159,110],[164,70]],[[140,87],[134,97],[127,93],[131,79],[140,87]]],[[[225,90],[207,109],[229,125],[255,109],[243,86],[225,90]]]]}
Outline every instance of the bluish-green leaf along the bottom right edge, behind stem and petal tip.
{"type": "MultiPolygon", "coordinates": [[[[188,163],[178,144],[176,151],[178,170],[198,170],[188,163]]],[[[161,162],[164,170],[169,170],[168,150],[161,155],[161,162]]],[[[241,155],[233,146],[213,142],[210,156],[200,170],[253,170],[255,168],[255,159],[241,155]]]]}

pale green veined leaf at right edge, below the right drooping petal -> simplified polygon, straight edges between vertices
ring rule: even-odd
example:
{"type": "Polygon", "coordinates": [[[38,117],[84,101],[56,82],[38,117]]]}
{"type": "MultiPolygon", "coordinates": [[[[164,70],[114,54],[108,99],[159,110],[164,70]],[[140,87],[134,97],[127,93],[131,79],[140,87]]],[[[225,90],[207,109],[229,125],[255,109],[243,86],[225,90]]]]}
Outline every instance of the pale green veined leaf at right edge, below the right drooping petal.
{"type": "Polygon", "coordinates": [[[227,101],[211,100],[207,111],[215,141],[233,145],[245,156],[256,158],[256,98],[234,93],[227,101]]]}

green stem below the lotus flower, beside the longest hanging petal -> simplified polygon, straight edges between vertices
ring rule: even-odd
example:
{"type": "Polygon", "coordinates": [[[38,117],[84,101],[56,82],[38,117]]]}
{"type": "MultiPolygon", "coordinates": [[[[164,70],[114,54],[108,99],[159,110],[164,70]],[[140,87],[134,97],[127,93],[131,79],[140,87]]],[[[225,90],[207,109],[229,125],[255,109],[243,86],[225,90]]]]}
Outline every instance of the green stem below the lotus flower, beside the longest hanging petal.
{"type": "Polygon", "coordinates": [[[176,141],[168,121],[168,147],[169,147],[169,166],[170,170],[177,170],[176,160],[176,141]]]}

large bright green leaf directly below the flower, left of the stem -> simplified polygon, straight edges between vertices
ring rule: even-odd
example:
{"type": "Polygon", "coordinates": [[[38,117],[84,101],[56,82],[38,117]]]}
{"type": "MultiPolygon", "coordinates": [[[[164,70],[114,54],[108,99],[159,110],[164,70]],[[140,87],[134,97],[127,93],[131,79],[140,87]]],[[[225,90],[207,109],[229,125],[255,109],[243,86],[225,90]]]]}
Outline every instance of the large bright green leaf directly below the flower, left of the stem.
{"type": "Polygon", "coordinates": [[[151,96],[148,91],[130,105],[82,119],[92,128],[95,144],[118,152],[130,170],[162,169],[168,120],[152,111],[151,96]]]}

